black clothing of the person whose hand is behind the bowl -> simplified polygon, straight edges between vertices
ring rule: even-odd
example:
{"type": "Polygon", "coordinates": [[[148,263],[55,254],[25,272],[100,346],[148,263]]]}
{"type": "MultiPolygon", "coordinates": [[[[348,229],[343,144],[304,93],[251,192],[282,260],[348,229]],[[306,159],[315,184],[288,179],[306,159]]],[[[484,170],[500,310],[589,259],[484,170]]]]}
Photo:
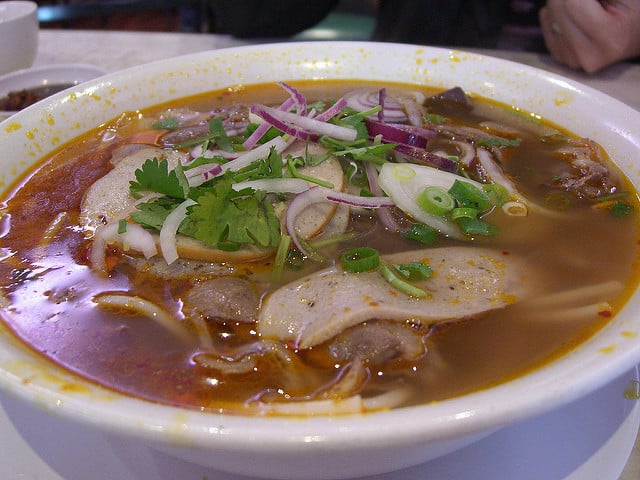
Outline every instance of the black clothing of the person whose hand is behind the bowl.
{"type": "MultiPolygon", "coordinates": [[[[544,0],[380,0],[372,40],[452,47],[543,50],[544,0]],[[509,38],[512,37],[512,38],[509,38]],[[522,37],[522,38],[520,38],[522,37]],[[506,39],[506,44],[505,44],[506,39]]],[[[285,38],[310,28],[339,0],[213,0],[215,31],[285,38]]]]}

